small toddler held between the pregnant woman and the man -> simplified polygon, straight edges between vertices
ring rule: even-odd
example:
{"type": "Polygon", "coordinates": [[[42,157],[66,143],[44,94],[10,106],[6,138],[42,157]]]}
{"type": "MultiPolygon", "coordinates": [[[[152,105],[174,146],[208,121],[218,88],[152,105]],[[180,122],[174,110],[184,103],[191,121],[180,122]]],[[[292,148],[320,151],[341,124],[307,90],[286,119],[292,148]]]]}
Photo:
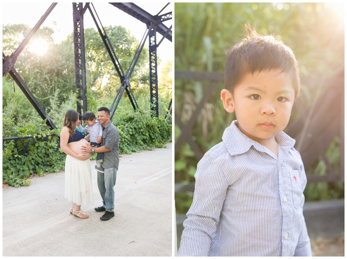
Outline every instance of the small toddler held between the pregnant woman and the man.
{"type": "MultiPolygon", "coordinates": [[[[90,135],[90,145],[94,145],[95,147],[100,147],[100,143],[103,137],[103,126],[96,121],[95,114],[93,112],[86,112],[83,115],[84,123],[87,125],[84,129],[81,125],[78,125],[78,128],[83,130],[83,132],[88,132],[90,135]]],[[[103,162],[104,153],[97,153],[96,156],[96,166],[95,168],[104,172],[104,168],[101,166],[103,162]]]]}

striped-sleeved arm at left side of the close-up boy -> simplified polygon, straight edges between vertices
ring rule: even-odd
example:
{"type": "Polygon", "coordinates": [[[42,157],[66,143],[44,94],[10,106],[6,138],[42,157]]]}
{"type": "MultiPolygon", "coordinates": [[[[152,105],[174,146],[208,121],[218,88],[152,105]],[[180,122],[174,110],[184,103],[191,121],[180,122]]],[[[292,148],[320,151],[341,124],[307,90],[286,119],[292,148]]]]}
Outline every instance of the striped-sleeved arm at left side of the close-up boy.
{"type": "Polygon", "coordinates": [[[219,223],[228,187],[215,159],[202,158],[195,173],[193,203],[183,222],[178,256],[209,256],[212,235],[219,223]]]}

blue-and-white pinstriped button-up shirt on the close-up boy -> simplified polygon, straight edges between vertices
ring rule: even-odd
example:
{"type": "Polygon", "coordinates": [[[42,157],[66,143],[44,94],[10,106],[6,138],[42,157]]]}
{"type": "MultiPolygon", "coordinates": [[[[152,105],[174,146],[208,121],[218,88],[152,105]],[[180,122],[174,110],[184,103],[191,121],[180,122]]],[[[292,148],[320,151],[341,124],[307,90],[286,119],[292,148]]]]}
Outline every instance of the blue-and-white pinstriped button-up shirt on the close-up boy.
{"type": "Polygon", "coordinates": [[[222,139],[198,163],[178,256],[311,256],[295,141],[277,134],[276,157],[237,121],[222,139]]]}

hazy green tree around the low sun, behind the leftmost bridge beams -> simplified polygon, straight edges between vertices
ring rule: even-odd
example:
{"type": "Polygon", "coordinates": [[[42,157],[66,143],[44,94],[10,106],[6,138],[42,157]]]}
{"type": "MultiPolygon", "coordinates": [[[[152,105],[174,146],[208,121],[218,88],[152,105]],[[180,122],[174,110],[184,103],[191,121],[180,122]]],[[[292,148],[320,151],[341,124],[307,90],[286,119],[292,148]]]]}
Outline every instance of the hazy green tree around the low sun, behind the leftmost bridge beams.
{"type": "MultiPolygon", "coordinates": [[[[27,25],[3,25],[3,51],[10,55],[29,32],[27,25]],[[11,41],[11,39],[14,41],[11,41]]],[[[20,77],[46,110],[50,108],[50,98],[60,90],[59,101],[64,102],[75,88],[73,45],[71,41],[53,43],[54,31],[51,28],[39,29],[18,56],[15,69],[20,77]],[[35,40],[42,39],[48,44],[44,55],[32,51],[35,40]]],[[[3,81],[12,81],[6,74],[3,81]]]]}

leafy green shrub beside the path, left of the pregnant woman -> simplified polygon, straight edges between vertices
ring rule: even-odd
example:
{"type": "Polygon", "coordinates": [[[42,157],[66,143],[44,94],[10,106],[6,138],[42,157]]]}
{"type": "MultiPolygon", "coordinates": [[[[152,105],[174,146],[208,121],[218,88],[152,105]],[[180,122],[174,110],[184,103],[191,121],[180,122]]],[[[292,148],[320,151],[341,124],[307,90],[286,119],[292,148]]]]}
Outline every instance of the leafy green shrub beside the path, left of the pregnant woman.
{"type": "MultiPolygon", "coordinates": [[[[42,126],[42,125],[41,125],[42,126]]],[[[45,128],[45,127],[43,127],[45,128]]],[[[31,174],[43,176],[63,169],[64,155],[59,149],[59,129],[45,130],[28,126],[16,128],[17,136],[29,136],[2,144],[2,182],[14,187],[29,185],[25,180],[31,174]],[[46,141],[48,140],[48,141],[46,141]]]]}

